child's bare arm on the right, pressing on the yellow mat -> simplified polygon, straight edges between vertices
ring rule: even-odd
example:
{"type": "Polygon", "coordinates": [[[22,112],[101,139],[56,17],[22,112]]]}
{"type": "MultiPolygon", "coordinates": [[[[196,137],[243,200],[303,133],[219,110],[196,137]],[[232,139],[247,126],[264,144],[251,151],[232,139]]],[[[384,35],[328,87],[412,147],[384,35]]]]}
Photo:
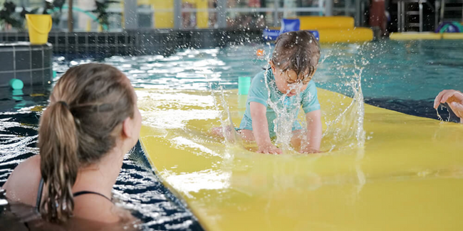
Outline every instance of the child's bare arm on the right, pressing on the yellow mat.
{"type": "MultiPolygon", "coordinates": [[[[307,139],[305,144],[301,145],[301,153],[317,153],[320,152],[321,144],[321,111],[316,110],[306,113],[307,121],[307,139]]],[[[304,142],[304,141],[303,141],[304,142]]]]}

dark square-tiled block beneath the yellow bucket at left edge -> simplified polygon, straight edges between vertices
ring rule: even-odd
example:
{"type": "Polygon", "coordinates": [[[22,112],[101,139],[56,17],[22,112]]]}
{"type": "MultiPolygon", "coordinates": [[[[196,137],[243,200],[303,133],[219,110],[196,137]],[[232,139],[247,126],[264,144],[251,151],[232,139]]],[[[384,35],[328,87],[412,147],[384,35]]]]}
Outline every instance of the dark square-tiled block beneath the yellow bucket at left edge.
{"type": "Polygon", "coordinates": [[[49,85],[53,77],[52,46],[28,43],[0,44],[0,87],[9,80],[22,80],[24,85],[49,85]]]}

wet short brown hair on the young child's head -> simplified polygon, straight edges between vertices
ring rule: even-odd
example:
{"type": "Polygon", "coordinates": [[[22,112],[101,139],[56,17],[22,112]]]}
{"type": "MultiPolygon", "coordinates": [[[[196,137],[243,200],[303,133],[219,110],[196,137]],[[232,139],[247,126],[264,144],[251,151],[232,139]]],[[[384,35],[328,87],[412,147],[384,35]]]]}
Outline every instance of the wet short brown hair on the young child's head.
{"type": "Polygon", "coordinates": [[[308,31],[291,31],[282,33],[276,38],[276,45],[271,61],[275,67],[285,72],[293,70],[297,80],[311,77],[320,59],[320,45],[312,33],[308,31]]]}

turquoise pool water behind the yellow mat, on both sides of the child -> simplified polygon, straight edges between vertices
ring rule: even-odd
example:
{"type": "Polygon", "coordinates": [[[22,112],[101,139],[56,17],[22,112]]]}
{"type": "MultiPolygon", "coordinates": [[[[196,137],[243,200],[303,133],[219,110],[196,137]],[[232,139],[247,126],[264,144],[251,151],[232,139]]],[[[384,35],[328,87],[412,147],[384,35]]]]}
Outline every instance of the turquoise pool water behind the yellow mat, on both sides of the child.
{"type": "MultiPolygon", "coordinates": [[[[257,58],[257,49],[268,54],[271,46],[179,50],[167,58],[115,56],[103,62],[123,70],[136,87],[208,90],[214,83],[231,89],[237,87],[239,76],[254,76],[266,65],[266,59],[257,58]]],[[[88,61],[75,60],[71,65],[88,61]]],[[[56,70],[68,68],[67,62],[56,65],[56,70]]],[[[350,95],[346,85],[360,69],[367,99],[429,100],[443,89],[463,89],[463,41],[322,45],[314,80],[318,87],[350,95]]]]}

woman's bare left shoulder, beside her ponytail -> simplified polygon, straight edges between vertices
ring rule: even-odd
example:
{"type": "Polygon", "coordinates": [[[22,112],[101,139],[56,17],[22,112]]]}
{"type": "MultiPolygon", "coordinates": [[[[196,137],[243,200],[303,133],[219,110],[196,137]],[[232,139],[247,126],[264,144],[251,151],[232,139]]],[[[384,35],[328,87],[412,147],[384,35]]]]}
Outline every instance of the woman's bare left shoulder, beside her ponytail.
{"type": "Polygon", "coordinates": [[[40,156],[35,155],[14,168],[3,186],[6,197],[26,205],[35,205],[40,179],[40,156]]]}

